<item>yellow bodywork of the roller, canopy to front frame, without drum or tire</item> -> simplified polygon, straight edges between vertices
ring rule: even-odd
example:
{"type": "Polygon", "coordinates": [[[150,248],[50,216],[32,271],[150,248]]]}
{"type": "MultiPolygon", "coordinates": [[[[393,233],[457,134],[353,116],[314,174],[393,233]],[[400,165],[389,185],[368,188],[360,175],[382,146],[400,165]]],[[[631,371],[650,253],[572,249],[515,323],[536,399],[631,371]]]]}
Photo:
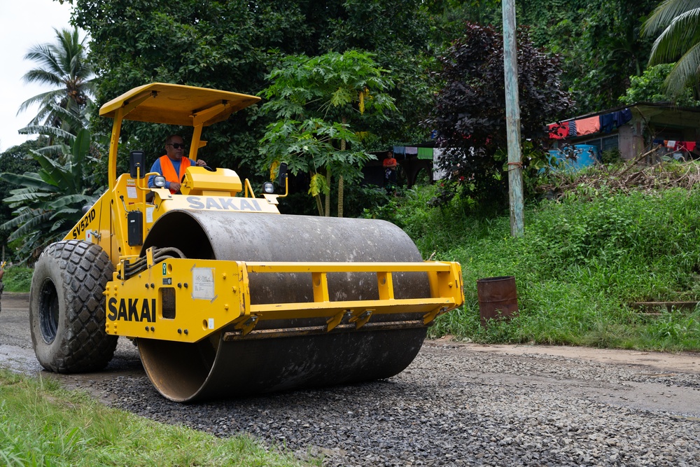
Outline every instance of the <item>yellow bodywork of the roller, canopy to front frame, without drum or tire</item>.
{"type": "MultiPolygon", "coordinates": [[[[146,337],[177,342],[197,342],[229,325],[225,340],[328,333],[342,328],[372,326],[372,316],[420,313],[426,326],[440,314],[463,304],[461,267],[458,263],[244,263],[229,260],[172,258],[156,262],[153,251],[142,251],[144,239],[158,218],[174,209],[237,211],[279,214],[278,195],[255,197],[250,183],[243,183],[230,169],[209,172],[189,167],[181,189],[148,188],[146,168],[137,176],[117,177],[117,152],[123,120],[139,120],[193,127],[189,157],[197,159],[202,128],[228,118],[231,113],[258,102],[255,96],[235,92],[152,83],[135,88],[104,104],[100,115],[113,118],[109,147],[109,190],[87,211],[65,239],[84,239],[99,244],[116,267],[106,286],[106,332],[127,337],[146,337]],[[146,202],[146,195],[153,200],[146,202]],[[141,260],[139,274],[125,274],[128,265],[141,260]],[[251,305],[249,274],[311,273],[314,302],[251,305]],[[371,272],[377,276],[379,300],[331,301],[327,274],[371,272]],[[426,272],[430,298],[394,298],[392,274],[426,272]],[[177,302],[192,302],[186,312],[164,314],[162,294],[174,291],[177,302]],[[255,330],[260,321],[323,318],[325,326],[255,330]],[[344,321],[344,323],[343,323],[344,321]]],[[[181,309],[181,308],[179,308],[181,309]]]]}

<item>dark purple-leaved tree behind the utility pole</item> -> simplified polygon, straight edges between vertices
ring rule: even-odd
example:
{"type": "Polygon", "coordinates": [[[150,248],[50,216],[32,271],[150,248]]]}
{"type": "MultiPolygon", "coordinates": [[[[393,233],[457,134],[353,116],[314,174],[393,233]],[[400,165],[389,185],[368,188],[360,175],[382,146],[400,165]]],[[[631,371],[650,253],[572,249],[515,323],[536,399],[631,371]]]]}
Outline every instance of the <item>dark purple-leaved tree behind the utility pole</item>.
{"type": "MultiPolygon", "coordinates": [[[[531,140],[532,155],[543,158],[542,127],[571,102],[559,81],[559,60],[535,49],[524,29],[518,32],[517,61],[521,137],[531,140]]],[[[443,148],[439,166],[449,179],[472,185],[472,197],[505,200],[503,39],[492,27],[467,24],[440,62],[437,78],[444,85],[425,123],[437,130],[436,144],[443,148]]],[[[526,168],[530,160],[524,159],[526,168]]]]}

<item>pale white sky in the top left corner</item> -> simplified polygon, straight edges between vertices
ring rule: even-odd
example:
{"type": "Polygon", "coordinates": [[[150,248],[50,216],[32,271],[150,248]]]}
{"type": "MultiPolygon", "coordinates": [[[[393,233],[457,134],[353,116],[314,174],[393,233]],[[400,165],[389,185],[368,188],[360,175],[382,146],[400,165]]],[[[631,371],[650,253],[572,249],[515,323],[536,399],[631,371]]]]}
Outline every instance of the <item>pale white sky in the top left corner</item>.
{"type": "MultiPolygon", "coordinates": [[[[17,115],[22,102],[51,90],[26,84],[22,75],[36,68],[35,62],[24,60],[31,46],[55,42],[53,28],[71,27],[71,5],[54,0],[0,0],[0,153],[22,144],[36,135],[18,134],[36,115],[38,107],[30,107],[17,115]]],[[[85,32],[80,31],[80,37],[85,32]]]]}

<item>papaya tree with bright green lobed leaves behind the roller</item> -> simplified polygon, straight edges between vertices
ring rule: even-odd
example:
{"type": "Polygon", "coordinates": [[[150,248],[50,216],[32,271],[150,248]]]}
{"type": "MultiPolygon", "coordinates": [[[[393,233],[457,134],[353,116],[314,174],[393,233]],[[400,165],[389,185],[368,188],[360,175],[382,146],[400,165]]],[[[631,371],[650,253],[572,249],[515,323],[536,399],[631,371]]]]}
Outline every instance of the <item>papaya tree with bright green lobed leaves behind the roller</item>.
{"type": "Polygon", "coordinates": [[[367,160],[360,136],[395,111],[386,91],[393,86],[372,54],[348,50],[318,57],[288,55],[267,76],[272,85],[262,91],[269,99],[262,113],[276,122],[260,140],[266,168],[286,162],[290,172],[307,172],[309,193],[318,214],[330,216],[332,177],[338,183],[338,216],[343,215],[343,183],[355,181],[367,160]],[[321,193],[325,194],[325,209],[321,193]]]}

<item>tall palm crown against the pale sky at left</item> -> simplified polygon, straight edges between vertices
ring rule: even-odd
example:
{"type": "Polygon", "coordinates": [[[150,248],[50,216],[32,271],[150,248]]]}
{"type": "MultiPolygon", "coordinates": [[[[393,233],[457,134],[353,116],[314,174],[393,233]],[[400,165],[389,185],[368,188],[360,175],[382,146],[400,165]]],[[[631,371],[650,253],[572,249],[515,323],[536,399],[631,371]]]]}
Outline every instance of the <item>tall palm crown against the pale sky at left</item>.
{"type": "Polygon", "coordinates": [[[25,83],[43,83],[56,89],[42,92],[22,103],[18,114],[33,104],[39,104],[40,109],[29,125],[40,125],[62,128],[75,134],[80,128],[73,127],[74,121],[66,118],[62,112],[56,111],[56,106],[80,116],[81,111],[92,103],[92,66],[87,62],[87,37],[80,39],[78,28],[54,29],[56,43],[46,43],[29,49],[25,60],[37,62],[39,67],[27,71],[22,80],[25,83]]]}

